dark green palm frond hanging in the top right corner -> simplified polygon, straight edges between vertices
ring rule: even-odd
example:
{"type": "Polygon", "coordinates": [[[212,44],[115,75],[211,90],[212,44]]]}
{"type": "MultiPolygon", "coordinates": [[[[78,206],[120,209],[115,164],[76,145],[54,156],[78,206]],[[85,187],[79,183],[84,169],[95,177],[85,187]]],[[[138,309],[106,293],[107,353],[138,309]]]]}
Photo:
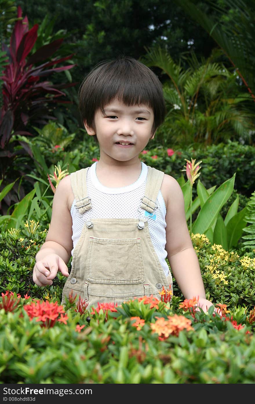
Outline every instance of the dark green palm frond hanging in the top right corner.
{"type": "Polygon", "coordinates": [[[195,21],[216,41],[228,57],[238,76],[243,80],[255,101],[255,0],[224,0],[224,6],[207,0],[218,13],[218,20],[212,20],[190,0],[178,0],[195,21]],[[232,11],[231,18],[226,18],[232,11]]]}

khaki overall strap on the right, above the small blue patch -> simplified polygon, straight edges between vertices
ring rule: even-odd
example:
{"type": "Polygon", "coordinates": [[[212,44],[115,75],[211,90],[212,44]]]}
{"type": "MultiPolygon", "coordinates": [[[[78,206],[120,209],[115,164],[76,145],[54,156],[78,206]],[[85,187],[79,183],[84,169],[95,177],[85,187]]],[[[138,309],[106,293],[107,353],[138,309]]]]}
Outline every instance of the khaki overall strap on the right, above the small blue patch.
{"type": "Polygon", "coordinates": [[[153,213],[154,210],[158,208],[156,200],[160,191],[163,177],[163,171],[148,166],[147,182],[145,185],[144,196],[141,198],[141,208],[147,210],[149,213],[153,213]]]}

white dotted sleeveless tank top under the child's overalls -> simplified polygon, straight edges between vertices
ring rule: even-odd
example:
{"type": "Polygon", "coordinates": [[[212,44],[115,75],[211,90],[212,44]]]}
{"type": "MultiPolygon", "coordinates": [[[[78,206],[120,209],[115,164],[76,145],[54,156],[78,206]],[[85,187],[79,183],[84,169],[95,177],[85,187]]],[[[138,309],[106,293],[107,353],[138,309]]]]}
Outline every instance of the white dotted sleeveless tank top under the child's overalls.
{"type": "MultiPolygon", "coordinates": [[[[95,219],[128,219],[137,217],[138,222],[139,211],[144,213],[140,205],[147,180],[147,165],[141,162],[141,174],[133,184],[121,188],[108,188],[102,185],[97,178],[96,163],[93,163],[87,171],[87,191],[91,199],[92,209],[81,215],[78,209],[75,209],[75,200],[70,209],[73,219],[73,250],[81,236],[84,224],[92,217],[95,219]]],[[[166,262],[167,252],[165,250],[166,205],[161,191],[158,193],[157,203],[158,209],[155,210],[154,217],[148,219],[148,227],[153,247],[167,276],[169,268],[166,262]]],[[[73,250],[71,252],[72,256],[73,250]]]]}

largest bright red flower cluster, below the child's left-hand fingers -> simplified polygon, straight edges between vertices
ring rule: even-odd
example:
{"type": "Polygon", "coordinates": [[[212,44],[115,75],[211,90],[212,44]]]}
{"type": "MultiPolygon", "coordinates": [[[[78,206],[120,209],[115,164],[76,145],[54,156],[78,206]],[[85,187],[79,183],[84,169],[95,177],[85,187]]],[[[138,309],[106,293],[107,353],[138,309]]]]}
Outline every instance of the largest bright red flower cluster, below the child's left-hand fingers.
{"type": "Polygon", "coordinates": [[[36,321],[41,321],[41,327],[51,328],[56,321],[66,324],[66,320],[68,320],[68,316],[63,316],[64,308],[59,306],[58,302],[37,300],[25,305],[24,309],[30,320],[36,318],[36,321]]]}

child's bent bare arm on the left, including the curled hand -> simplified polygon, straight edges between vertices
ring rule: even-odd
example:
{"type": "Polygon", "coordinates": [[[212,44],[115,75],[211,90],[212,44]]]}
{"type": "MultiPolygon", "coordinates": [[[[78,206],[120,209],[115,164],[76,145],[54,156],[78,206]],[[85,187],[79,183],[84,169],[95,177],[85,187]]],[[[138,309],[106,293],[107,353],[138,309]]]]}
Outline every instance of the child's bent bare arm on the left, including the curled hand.
{"type": "Polygon", "coordinates": [[[35,257],[33,281],[38,286],[51,285],[58,271],[69,276],[66,264],[73,248],[72,217],[68,207],[70,191],[70,176],[68,176],[62,179],[56,188],[50,228],[45,243],[35,257]]]}

